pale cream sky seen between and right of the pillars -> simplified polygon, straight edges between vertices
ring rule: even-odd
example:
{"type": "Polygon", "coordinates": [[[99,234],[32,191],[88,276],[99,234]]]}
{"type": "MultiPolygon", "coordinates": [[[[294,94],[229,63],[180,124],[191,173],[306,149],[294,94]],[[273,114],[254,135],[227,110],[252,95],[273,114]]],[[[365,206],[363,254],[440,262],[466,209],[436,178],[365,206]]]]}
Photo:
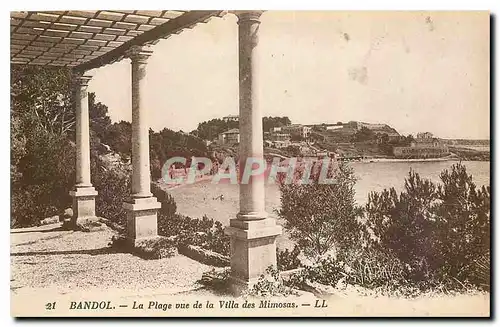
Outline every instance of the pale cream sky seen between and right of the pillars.
{"type": "MultiPolygon", "coordinates": [[[[238,114],[236,21],[227,14],[152,47],[144,95],[151,128],[189,132],[238,114]]],[[[489,55],[487,12],[267,11],[254,78],[264,116],[486,139],[489,55]]],[[[111,119],[130,121],[130,60],[89,73],[89,91],[111,119]]]]}

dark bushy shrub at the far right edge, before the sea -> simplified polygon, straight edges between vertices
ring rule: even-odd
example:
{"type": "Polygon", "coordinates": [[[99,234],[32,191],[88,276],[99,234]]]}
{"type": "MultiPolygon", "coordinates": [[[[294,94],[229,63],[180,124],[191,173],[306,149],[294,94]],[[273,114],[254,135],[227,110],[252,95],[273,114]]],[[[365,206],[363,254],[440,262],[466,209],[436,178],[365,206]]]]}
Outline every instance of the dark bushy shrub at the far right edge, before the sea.
{"type": "Polygon", "coordinates": [[[477,188],[461,164],[440,177],[435,231],[440,274],[468,280],[477,273],[472,263],[490,250],[490,187],[477,188]]]}

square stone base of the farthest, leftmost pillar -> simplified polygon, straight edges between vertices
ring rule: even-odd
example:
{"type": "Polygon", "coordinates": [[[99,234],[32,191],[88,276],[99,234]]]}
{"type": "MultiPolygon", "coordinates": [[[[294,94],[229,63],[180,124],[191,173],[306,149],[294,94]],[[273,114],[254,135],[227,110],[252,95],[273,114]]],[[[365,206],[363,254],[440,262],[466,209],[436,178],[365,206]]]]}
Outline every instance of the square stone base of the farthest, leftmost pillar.
{"type": "Polygon", "coordinates": [[[73,217],[71,218],[71,226],[76,227],[77,224],[97,222],[98,218],[95,214],[95,197],[97,191],[92,186],[77,187],[69,194],[73,197],[73,217]]]}

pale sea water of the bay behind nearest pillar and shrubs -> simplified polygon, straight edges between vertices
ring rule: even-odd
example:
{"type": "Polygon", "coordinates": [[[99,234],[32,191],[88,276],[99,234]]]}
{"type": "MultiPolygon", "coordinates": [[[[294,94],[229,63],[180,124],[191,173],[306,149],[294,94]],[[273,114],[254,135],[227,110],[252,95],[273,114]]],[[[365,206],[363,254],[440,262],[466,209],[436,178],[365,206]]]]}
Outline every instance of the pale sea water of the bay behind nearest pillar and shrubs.
{"type": "MultiPolygon", "coordinates": [[[[427,162],[350,162],[357,178],[355,199],[360,205],[366,203],[368,193],[382,191],[394,187],[396,191],[404,188],[404,179],[410,169],[423,178],[440,182],[440,174],[445,169],[451,169],[457,161],[427,161],[427,162]]],[[[489,161],[464,161],[467,173],[472,175],[478,186],[490,185],[489,161]]],[[[228,224],[229,219],[236,217],[239,210],[239,189],[233,184],[212,184],[205,180],[195,184],[183,185],[169,190],[177,203],[180,214],[192,218],[203,215],[228,224]],[[222,197],[220,196],[222,195],[222,197]]],[[[280,191],[277,185],[266,185],[266,211],[274,215],[280,207],[280,191]]]]}

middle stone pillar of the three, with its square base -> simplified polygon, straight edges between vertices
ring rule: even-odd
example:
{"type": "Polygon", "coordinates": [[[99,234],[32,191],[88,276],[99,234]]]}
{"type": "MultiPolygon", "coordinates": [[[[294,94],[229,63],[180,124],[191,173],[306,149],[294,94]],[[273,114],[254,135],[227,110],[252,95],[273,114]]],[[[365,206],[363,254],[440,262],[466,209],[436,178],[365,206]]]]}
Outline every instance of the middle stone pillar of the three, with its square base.
{"type": "Polygon", "coordinates": [[[132,64],[132,194],[123,207],[127,211],[127,239],[138,241],[158,235],[157,211],[161,204],[151,194],[148,110],[144,104],[146,63],[152,51],[132,46],[127,56],[132,64]]]}

